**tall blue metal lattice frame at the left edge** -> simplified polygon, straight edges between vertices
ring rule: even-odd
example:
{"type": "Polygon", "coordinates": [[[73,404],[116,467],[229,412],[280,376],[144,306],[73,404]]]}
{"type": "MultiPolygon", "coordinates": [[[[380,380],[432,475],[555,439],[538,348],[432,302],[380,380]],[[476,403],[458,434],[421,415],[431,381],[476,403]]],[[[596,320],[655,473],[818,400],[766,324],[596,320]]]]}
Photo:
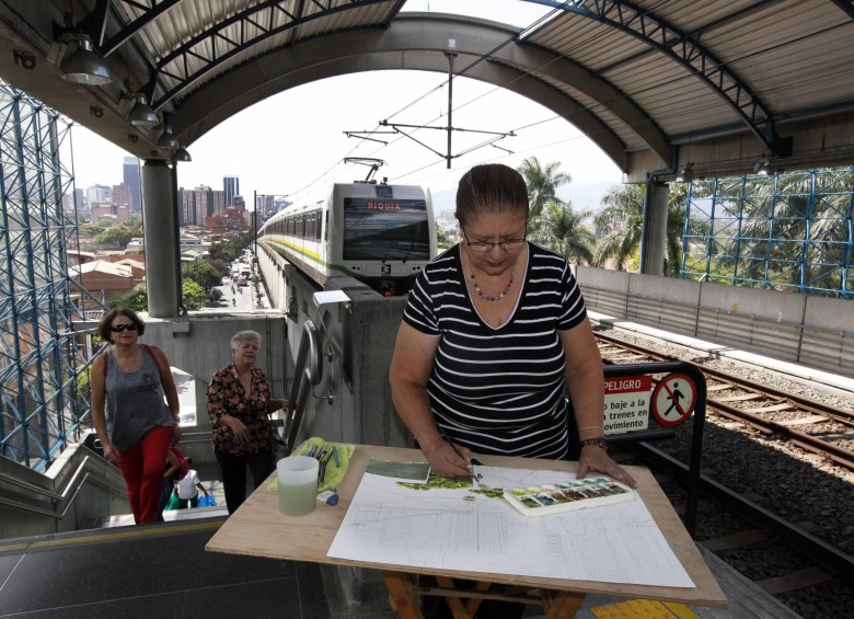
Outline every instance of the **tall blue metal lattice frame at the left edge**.
{"type": "Polygon", "coordinates": [[[77,223],[62,211],[62,195],[73,192],[59,154],[70,128],[0,81],[0,456],[35,470],[76,439],[89,414],[67,259],[77,223]]]}

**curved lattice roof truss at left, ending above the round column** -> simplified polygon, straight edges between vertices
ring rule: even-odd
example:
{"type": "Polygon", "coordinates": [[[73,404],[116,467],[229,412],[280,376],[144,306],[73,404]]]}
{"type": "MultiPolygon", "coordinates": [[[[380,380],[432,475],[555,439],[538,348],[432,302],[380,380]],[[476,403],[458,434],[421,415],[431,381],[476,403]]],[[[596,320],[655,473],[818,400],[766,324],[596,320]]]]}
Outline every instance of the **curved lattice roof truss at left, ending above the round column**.
{"type": "MultiPolygon", "coordinates": [[[[181,47],[175,48],[172,53],[161,58],[158,61],[154,69],[152,70],[152,73],[149,77],[149,81],[145,87],[145,91],[147,93],[150,93],[153,99],[153,91],[159,74],[168,76],[178,81],[177,85],[166,91],[161,98],[152,101],[151,106],[154,110],[160,110],[161,107],[163,107],[163,105],[165,105],[169,101],[171,101],[177,93],[188,88],[189,84],[192,84],[203,74],[207,73],[215,67],[221,65],[229,58],[232,58],[233,56],[240,54],[244,49],[247,49],[253,45],[256,45],[270,36],[295,28],[302,24],[309,23],[313,20],[325,18],[333,13],[348,11],[350,9],[362,8],[370,4],[379,4],[383,2],[388,2],[388,0],[350,0],[348,4],[342,4],[339,7],[328,7],[326,9],[323,9],[322,11],[302,18],[287,11],[285,7],[282,7],[281,0],[265,0],[264,2],[250,7],[246,10],[241,11],[240,13],[235,13],[234,15],[230,16],[227,20],[223,20],[216,24],[211,24],[211,26],[208,30],[194,36],[193,38],[191,38],[189,41],[181,45],[181,47]],[[275,27],[275,28],[265,27],[263,23],[265,21],[272,22],[272,19],[264,20],[258,18],[266,12],[273,14],[274,11],[280,11],[281,13],[285,13],[288,18],[290,18],[291,21],[279,27],[275,27]],[[223,31],[230,27],[232,24],[241,24],[240,41],[232,41],[230,37],[223,34],[223,31]],[[246,28],[245,27],[246,24],[250,24],[252,27],[246,28]],[[252,36],[247,34],[250,32],[258,33],[258,34],[252,36]],[[206,39],[211,39],[211,42],[215,43],[215,45],[211,45],[211,49],[214,51],[209,55],[209,57],[205,57],[198,54],[197,51],[194,51],[194,47],[196,47],[199,43],[206,39]],[[230,45],[231,48],[224,54],[218,56],[216,53],[217,49],[216,43],[224,43],[227,45],[230,45]],[[189,73],[187,69],[188,67],[187,58],[189,57],[205,60],[207,64],[201,69],[195,71],[194,73],[189,73]],[[181,62],[184,66],[183,76],[172,73],[165,70],[166,66],[169,66],[174,60],[178,60],[178,59],[183,59],[183,61],[181,62]]],[[[322,4],[320,4],[316,1],[314,3],[319,7],[322,7],[322,4]]]]}

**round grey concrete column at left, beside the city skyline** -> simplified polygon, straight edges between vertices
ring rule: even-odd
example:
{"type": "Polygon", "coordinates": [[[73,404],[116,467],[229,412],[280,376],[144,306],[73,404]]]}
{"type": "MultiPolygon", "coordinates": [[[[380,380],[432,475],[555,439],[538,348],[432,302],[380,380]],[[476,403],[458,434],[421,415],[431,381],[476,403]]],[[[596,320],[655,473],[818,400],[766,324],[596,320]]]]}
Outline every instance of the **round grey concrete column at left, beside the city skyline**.
{"type": "Polygon", "coordinates": [[[178,316],[177,268],[181,260],[175,239],[177,188],[165,161],[148,159],[142,167],[142,226],[146,240],[148,312],[153,318],[178,316]]]}

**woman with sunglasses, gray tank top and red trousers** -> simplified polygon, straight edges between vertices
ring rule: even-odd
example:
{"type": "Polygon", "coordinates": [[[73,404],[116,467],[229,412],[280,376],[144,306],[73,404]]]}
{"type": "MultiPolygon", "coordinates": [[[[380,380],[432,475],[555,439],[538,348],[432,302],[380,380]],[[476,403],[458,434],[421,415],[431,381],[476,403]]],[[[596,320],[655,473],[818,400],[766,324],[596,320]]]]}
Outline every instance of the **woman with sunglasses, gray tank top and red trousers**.
{"type": "Polygon", "coordinates": [[[146,323],[127,308],[107,312],[97,332],[111,347],[92,363],[92,422],[104,458],[118,463],[136,524],[153,523],[170,444],[181,439],[169,360],[137,339],[146,323]]]}

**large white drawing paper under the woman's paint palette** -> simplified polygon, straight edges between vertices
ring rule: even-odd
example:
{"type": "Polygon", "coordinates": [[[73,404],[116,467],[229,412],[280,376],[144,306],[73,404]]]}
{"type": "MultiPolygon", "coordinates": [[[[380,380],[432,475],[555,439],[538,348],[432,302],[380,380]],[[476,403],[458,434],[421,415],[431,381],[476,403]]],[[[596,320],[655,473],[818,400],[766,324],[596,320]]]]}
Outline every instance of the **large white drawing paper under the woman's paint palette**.
{"type": "MultiPolygon", "coordinates": [[[[477,467],[477,472],[482,484],[504,489],[572,479],[565,471],[477,467]]],[[[526,518],[503,498],[412,490],[366,474],[327,555],[403,568],[694,586],[639,496],[526,518]]]]}

